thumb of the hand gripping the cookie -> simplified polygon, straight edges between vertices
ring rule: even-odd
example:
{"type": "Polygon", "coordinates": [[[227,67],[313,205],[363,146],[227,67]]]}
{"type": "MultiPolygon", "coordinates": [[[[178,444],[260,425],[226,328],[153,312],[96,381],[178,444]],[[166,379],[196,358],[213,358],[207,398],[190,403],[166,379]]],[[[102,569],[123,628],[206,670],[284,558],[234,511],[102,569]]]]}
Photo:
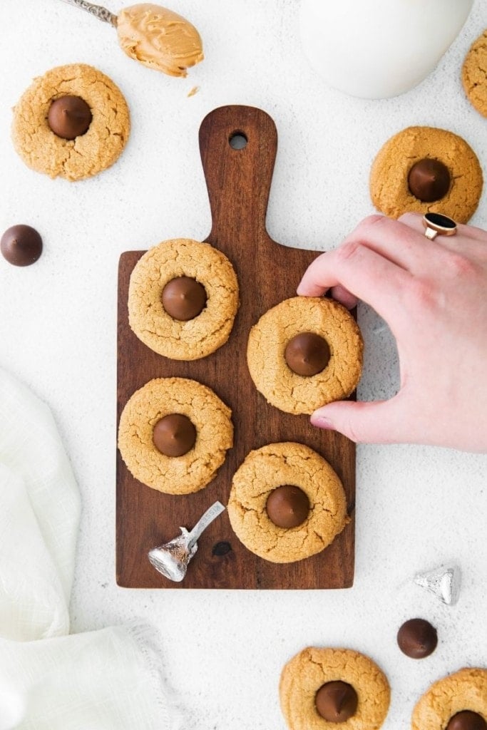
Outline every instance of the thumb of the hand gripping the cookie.
{"type": "Polygon", "coordinates": [[[388,401],[334,401],[318,408],[310,420],[319,429],[333,429],[355,442],[391,444],[407,442],[404,409],[399,393],[388,401]]]}

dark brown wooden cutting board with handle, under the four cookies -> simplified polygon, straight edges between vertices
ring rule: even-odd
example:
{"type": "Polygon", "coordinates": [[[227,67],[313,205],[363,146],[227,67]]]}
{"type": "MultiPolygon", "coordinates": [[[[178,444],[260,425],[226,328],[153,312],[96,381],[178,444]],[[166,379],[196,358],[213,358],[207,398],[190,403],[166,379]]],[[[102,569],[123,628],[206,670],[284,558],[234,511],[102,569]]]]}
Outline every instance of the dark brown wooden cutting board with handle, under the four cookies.
{"type": "Polygon", "coordinates": [[[253,107],[221,107],[204,118],[199,146],[212,212],[206,240],[228,256],[237,272],[239,312],[229,341],[212,355],[189,362],[157,355],[135,337],[127,313],[130,274],[145,252],[123,253],[118,278],[118,419],[132,393],[148,380],[193,378],[231,407],[234,447],[215,480],[185,496],[166,495],[139,483],[117,453],[117,583],[127,588],[347,588],[353,583],[355,445],[334,431],[313,428],[307,415],[289,415],[267,404],[250,380],[246,363],[250,328],[269,307],[296,295],[304,270],[317,255],[282,246],[266,232],[277,150],[275,124],[253,107]],[[245,140],[244,147],[235,148],[245,140]],[[223,512],[199,538],[183,582],[172,583],[160,575],[147,559],[150,548],[179,534],[179,526],[191,529],[217,499],[226,504],[234,472],[249,451],[279,441],[312,447],[342,479],[352,520],[329,548],[293,564],[269,563],[239,542],[223,512]]]}

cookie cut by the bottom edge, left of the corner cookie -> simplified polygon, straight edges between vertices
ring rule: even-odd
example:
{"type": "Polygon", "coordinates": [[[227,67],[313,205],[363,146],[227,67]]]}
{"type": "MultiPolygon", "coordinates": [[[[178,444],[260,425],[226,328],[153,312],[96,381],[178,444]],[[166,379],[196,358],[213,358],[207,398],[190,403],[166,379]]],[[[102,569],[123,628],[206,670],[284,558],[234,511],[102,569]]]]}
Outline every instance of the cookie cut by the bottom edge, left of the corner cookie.
{"type": "Polygon", "coordinates": [[[378,730],[391,700],[386,675],[350,649],[308,647],[284,666],[280,705],[290,730],[378,730]]]}

